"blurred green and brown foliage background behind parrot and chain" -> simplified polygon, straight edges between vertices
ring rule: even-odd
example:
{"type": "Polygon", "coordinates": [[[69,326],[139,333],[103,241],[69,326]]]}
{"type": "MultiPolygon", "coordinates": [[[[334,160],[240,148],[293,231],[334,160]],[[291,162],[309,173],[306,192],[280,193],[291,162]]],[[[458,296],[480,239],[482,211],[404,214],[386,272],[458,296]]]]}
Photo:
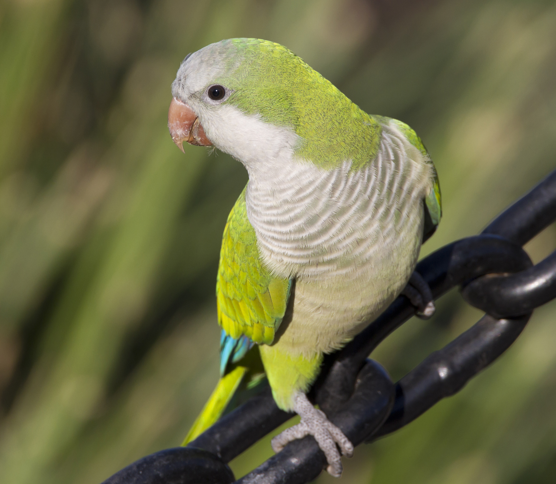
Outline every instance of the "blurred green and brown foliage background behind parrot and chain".
{"type": "MultiPolygon", "coordinates": [[[[218,378],[215,275],[247,176],[166,127],[188,52],[285,44],[438,168],[423,255],[556,167],[556,4],[470,0],[0,1],[0,482],[98,484],[178,445],[218,378]]],[[[526,247],[556,247],[550,226],[526,247]]],[[[473,324],[458,293],[373,355],[394,379],[473,324]]],[[[358,447],[340,482],[556,476],[556,301],[455,397],[358,447]]],[[[231,463],[240,477],[269,438],[231,463]]],[[[337,482],[326,475],[319,483],[337,482]]]]}

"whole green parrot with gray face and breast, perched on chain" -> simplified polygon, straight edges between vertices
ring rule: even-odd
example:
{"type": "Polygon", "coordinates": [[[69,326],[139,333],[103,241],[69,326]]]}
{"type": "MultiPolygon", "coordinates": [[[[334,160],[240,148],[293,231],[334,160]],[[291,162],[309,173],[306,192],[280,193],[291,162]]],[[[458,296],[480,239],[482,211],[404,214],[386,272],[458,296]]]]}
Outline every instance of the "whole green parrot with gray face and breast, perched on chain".
{"type": "Polygon", "coordinates": [[[365,113],[273,42],[228,39],[188,55],[172,96],[178,147],[214,145],[249,173],[220,251],[221,379],[184,444],[266,375],[280,409],[301,416],[274,450],[312,435],[340,476],[353,445],[306,393],[323,355],[399,294],[434,312],[414,273],[441,216],[434,165],[408,125],[365,113]]]}

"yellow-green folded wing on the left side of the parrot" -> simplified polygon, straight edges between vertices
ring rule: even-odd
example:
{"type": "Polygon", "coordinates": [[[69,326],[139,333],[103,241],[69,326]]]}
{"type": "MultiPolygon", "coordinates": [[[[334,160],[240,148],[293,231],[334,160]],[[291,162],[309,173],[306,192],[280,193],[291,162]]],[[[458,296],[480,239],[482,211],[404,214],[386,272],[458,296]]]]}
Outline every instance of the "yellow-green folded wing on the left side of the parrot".
{"type": "Polygon", "coordinates": [[[247,218],[245,189],[228,216],[216,279],[218,322],[233,339],[271,344],[290,298],[291,280],[261,263],[255,230],[247,218]]]}

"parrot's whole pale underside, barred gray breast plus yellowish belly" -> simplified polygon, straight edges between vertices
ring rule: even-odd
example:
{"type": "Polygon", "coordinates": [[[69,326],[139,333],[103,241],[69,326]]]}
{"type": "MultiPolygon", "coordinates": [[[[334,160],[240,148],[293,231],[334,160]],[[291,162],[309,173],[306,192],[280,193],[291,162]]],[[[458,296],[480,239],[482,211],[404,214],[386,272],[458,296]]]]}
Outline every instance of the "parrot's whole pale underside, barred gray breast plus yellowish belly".
{"type": "Polygon", "coordinates": [[[350,160],[324,170],[292,159],[249,167],[247,215],[261,256],[277,275],[296,278],[294,317],[280,337],[290,351],[340,347],[415,267],[430,165],[390,125],[376,160],[350,168],[350,160]]]}

